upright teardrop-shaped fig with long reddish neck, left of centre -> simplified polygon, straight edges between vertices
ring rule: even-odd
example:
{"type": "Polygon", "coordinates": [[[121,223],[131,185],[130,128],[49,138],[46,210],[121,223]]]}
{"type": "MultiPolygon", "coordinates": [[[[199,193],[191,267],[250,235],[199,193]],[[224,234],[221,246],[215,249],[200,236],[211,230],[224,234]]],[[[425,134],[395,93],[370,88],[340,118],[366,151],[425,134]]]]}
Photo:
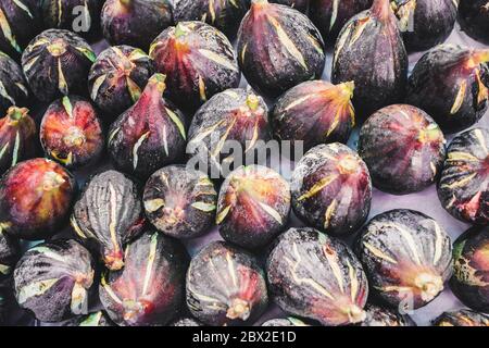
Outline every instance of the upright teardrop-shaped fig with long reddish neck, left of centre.
{"type": "Polygon", "coordinates": [[[165,78],[151,76],[139,100],[110,126],[109,153],[123,172],[147,178],[185,153],[185,119],[162,97],[165,78]]]}

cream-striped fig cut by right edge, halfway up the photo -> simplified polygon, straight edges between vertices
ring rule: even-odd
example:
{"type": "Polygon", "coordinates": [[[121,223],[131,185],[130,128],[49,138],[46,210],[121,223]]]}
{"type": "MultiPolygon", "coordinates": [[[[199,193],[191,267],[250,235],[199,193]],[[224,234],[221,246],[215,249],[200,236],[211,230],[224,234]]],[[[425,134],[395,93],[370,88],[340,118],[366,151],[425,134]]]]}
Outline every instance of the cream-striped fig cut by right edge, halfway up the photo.
{"type": "Polygon", "coordinates": [[[489,130],[474,128],[453,139],[448,149],[438,197],[454,217],[489,224],[489,130]]]}

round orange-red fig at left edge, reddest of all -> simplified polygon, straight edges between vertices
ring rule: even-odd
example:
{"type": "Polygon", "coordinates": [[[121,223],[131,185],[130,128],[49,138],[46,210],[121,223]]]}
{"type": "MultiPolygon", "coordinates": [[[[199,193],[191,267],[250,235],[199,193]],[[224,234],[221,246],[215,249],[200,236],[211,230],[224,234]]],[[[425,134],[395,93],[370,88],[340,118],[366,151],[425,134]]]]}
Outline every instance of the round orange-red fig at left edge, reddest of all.
{"type": "Polygon", "coordinates": [[[53,235],[70,213],[75,190],[73,176],[53,161],[16,164],[0,179],[0,229],[29,240],[53,235]]]}

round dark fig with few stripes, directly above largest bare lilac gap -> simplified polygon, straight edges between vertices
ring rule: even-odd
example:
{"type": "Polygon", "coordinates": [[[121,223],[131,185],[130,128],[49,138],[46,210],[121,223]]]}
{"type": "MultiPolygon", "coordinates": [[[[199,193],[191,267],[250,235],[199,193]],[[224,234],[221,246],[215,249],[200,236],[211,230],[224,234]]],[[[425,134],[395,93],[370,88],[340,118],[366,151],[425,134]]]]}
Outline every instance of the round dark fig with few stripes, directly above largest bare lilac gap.
{"type": "Polygon", "coordinates": [[[375,112],[360,130],[359,154],[374,186],[394,195],[417,192],[438,178],[444,136],[423,110],[405,104],[375,112]]]}

